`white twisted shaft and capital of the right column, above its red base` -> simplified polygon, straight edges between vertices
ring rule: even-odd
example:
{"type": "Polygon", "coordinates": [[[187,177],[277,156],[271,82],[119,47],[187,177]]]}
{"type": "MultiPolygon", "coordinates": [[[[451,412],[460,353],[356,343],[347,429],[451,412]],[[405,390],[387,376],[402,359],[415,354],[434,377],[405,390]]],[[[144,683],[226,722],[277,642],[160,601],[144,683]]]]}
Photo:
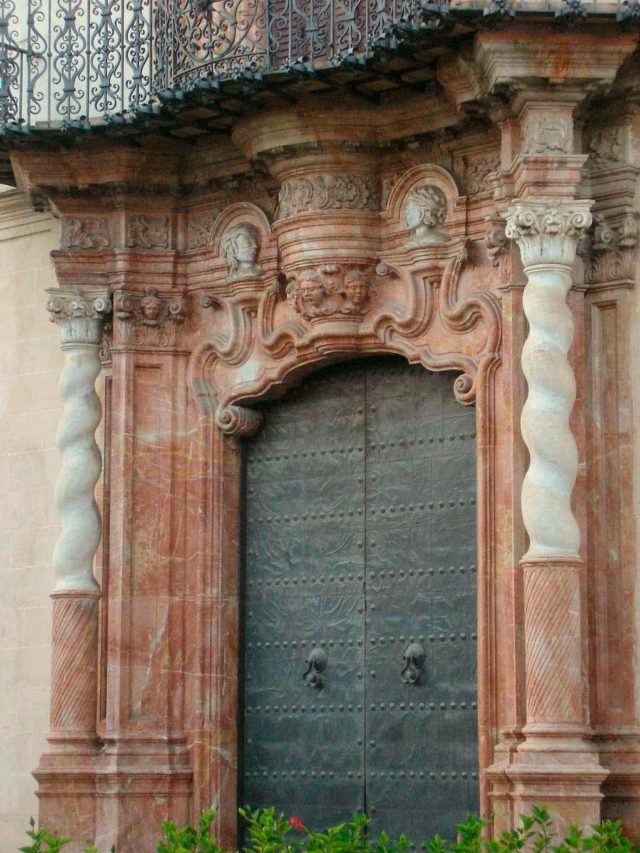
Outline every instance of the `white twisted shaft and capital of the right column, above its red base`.
{"type": "Polygon", "coordinates": [[[579,238],[591,224],[589,201],[521,201],[506,214],[507,237],[517,241],[527,276],[524,312],[529,335],[522,369],[529,392],[522,436],[530,463],[522,486],[529,534],[525,560],[578,557],[580,534],[571,510],[578,452],[569,426],[576,383],[567,353],[573,318],[567,305],[579,238]]]}

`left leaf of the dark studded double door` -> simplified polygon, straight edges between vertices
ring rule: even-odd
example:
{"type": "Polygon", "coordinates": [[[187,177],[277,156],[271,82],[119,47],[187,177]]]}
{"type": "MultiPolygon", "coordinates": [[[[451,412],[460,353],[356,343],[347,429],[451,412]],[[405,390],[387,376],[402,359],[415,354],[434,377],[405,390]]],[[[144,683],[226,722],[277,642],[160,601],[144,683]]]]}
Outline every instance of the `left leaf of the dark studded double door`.
{"type": "Polygon", "coordinates": [[[314,827],[365,807],[364,392],[360,372],[316,377],[247,453],[241,801],[314,827]]]}

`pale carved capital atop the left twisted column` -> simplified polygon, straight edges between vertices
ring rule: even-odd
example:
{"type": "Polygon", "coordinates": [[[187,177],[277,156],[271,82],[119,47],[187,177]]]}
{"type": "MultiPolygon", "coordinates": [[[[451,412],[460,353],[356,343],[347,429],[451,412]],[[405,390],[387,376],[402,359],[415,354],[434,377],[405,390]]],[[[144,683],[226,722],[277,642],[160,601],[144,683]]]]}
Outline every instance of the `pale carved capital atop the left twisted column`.
{"type": "Polygon", "coordinates": [[[51,289],[47,293],[49,319],[58,324],[61,345],[98,346],[105,320],[111,313],[108,291],[51,289]]]}

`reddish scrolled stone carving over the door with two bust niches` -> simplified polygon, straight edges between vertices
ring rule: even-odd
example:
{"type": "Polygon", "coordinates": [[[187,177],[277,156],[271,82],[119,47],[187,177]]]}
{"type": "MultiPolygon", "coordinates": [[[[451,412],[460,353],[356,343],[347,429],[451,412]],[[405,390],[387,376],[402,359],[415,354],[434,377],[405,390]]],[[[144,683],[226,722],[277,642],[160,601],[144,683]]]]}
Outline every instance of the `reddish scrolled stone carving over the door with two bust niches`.
{"type": "MultiPolygon", "coordinates": [[[[292,192],[288,205],[298,198],[292,192]]],[[[498,357],[500,311],[487,292],[459,294],[464,199],[447,172],[417,167],[397,181],[378,214],[373,250],[354,247],[351,230],[343,244],[334,226],[330,242],[310,238],[306,263],[296,250],[284,268],[273,264],[274,238],[250,207],[218,218],[220,260],[195,304],[202,343],[191,358],[191,387],[224,432],[250,434],[260,425],[252,402],[284,393],[324,360],[356,354],[398,353],[430,370],[456,370],[457,398],[474,401],[478,377],[498,357]],[[240,234],[242,260],[230,263],[228,247],[240,234]]],[[[310,210],[308,218],[323,215],[310,210]]],[[[348,215],[356,229],[372,214],[367,207],[348,215]]],[[[285,227],[279,220],[278,239],[285,227]]],[[[292,220],[290,228],[302,226],[292,220]]]]}

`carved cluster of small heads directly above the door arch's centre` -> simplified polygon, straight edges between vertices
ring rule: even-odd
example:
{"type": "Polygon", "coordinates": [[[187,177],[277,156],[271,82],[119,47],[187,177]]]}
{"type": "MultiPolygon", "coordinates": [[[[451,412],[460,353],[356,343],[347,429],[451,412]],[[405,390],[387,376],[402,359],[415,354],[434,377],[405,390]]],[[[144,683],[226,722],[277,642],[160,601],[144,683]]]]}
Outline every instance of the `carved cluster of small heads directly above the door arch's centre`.
{"type": "Polygon", "coordinates": [[[302,270],[287,287],[287,298],[307,320],[346,316],[361,319],[369,306],[370,276],[338,265],[302,270]]]}

